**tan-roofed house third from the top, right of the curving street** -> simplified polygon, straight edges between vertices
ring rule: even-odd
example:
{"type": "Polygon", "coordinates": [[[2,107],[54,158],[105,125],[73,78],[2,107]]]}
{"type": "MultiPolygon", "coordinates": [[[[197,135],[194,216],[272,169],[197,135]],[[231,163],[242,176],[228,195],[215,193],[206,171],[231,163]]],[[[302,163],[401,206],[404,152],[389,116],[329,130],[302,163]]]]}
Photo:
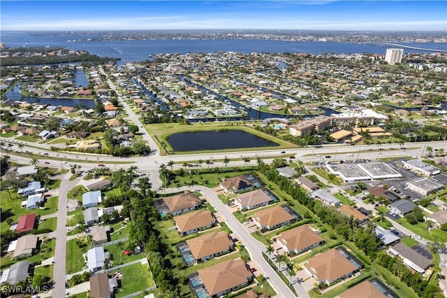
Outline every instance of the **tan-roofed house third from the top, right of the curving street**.
{"type": "Polygon", "coordinates": [[[291,215],[286,208],[288,208],[286,205],[277,205],[259,211],[253,215],[253,222],[261,231],[289,225],[297,218],[291,215]]]}

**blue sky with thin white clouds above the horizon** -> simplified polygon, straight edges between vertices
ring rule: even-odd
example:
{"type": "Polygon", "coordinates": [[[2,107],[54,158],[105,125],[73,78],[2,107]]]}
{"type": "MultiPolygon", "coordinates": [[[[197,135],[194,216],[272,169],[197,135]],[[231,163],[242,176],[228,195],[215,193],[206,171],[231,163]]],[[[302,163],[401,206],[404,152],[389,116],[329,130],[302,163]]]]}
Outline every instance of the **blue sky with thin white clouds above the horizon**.
{"type": "Polygon", "coordinates": [[[447,31],[447,1],[5,1],[1,30],[447,31]]]}

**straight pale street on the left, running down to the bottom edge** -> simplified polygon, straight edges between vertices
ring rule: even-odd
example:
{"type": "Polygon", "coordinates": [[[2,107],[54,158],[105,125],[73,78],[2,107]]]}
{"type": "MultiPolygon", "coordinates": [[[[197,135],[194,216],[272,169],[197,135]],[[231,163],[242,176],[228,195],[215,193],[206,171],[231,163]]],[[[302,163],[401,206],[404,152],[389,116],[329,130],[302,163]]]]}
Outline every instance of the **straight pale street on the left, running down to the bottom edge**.
{"type": "MultiPolygon", "coordinates": [[[[54,288],[52,289],[52,297],[65,297],[65,278],[66,278],[66,242],[67,242],[67,230],[66,230],[66,218],[68,203],[67,194],[68,190],[71,190],[82,179],[81,177],[75,180],[68,180],[72,174],[66,173],[61,180],[61,186],[59,187],[59,202],[57,205],[57,229],[55,232],[56,249],[54,251],[54,271],[53,280],[54,288]]],[[[70,257],[70,256],[68,256],[70,257]]]]}

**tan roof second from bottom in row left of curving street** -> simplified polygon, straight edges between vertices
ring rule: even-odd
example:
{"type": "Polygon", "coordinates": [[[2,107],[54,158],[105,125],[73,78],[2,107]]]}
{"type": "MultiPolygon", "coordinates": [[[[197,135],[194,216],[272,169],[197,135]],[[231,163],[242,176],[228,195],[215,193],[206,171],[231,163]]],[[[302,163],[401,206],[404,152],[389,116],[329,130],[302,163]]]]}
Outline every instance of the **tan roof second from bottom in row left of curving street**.
{"type": "Polygon", "coordinates": [[[220,253],[233,245],[233,242],[230,241],[226,232],[223,231],[198,236],[186,240],[186,243],[196,260],[200,260],[208,255],[220,253]]]}

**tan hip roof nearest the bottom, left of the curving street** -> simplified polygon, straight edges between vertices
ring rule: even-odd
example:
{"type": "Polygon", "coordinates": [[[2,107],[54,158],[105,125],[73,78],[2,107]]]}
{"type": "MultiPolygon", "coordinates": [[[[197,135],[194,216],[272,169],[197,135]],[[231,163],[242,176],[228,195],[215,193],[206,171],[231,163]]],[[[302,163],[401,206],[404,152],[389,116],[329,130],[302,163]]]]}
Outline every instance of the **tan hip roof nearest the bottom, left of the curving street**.
{"type": "Polygon", "coordinates": [[[198,274],[211,296],[247,283],[252,276],[247,265],[240,259],[215,264],[199,270],[198,274]]]}

